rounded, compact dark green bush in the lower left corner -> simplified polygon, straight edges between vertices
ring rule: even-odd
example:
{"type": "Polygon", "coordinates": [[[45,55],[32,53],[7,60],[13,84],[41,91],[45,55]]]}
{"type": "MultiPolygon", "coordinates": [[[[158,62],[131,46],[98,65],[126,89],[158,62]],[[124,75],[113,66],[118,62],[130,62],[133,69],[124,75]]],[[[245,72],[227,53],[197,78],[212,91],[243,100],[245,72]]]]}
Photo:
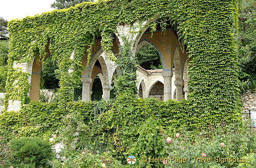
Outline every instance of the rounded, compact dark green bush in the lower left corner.
{"type": "Polygon", "coordinates": [[[49,167],[48,161],[54,157],[49,143],[39,138],[22,137],[10,141],[12,156],[16,164],[34,164],[49,167]]]}

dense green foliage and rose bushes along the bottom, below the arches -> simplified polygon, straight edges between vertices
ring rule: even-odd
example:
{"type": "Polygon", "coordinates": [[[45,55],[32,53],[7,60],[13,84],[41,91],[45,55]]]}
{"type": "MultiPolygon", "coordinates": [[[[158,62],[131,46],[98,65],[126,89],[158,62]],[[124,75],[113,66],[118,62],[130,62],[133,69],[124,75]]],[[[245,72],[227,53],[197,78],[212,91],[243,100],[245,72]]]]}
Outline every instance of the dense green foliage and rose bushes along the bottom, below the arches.
{"type": "MultiPolygon", "coordinates": [[[[255,154],[250,152],[255,153],[256,134],[249,122],[238,128],[223,120],[217,128],[208,125],[208,129],[195,131],[194,114],[184,107],[189,107],[188,102],[131,97],[117,97],[113,102],[72,102],[65,108],[58,108],[56,103],[33,102],[26,105],[21,113],[6,111],[0,115],[0,134],[8,141],[28,136],[41,137],[52,145],[63,142],[65,149],[61,156],[65,159],[63,162],[54,160],[56,167],[77,167],[76,164],[97,167],[101,163],[125,167],[121,164],[126,164],[126,157],[131,154],[140,160],[142,157],[168,155],[200,157],[201,153],[206,153],[207,157],[247,157],[246,162],[225,163],[228,167],[240,163],[254,164],[255,154]],[[180,133],[180,137],[174,139],[176,133],[180,133]],[[165,141],[167,136],[172,137],[172,143],[165,141]],[[228,149],[223,149],[220,143],[228,149]]],[[[8,155],[8,152],[4,154],[8,155]]],[[[190,163],[175,163],[181,167],[187,164],[190,163]]],[[[190,165],[194,164],[195,167],[211,165],[190,165]]],[[[138,162],[137,166],[162,167],[163,164],[138,162]]]]}

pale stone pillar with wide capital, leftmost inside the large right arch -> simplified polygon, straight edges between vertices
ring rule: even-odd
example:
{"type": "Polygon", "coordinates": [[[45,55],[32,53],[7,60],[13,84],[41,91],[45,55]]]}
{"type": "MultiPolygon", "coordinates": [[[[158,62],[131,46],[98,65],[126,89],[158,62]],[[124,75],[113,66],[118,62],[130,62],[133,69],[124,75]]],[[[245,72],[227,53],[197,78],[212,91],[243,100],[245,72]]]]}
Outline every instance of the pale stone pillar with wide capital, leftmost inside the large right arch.
{"type": "Polygon", "coordinates": [[[163,100],[168,101],[169,99],[172,99],[172,77],[173,77],[173,71],[163,71],[163,100]]]}

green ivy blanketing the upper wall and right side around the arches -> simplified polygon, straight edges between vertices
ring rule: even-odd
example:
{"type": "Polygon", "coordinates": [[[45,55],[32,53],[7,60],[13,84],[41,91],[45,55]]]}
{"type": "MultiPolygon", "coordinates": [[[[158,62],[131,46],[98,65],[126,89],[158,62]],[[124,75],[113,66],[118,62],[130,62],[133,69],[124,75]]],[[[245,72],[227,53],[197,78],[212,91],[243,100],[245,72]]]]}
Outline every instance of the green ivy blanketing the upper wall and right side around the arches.
{"type": "MultiPolygon", "coordinates": [[[[69,9],[11,20],[8,25],[10,50],[6,106],[8,100],[19,100],[22,104],[28,102],[29,74],[13,68],[14,63],[29,64],[34,57],[42,60],[49,48],[61,71],[58,105],[65,108],[66,103],[73,100],[71,90],[80,82],[85,48],[89,47],[89,61],[94,40],[100,37],[101,47],[110,51],[113,32],[121,44],[120,77],[114,88],[121,97],[127,93],[135,95],[136,68],[131,48],[135,48],[136,43],[131,36],[120,35],[117,25],[132,26],[137,21],[137,29],[131,28],[136,31],[128,32],[139,37],[146,26],[155,31],[160,22],[164,30],[170,22],[191,60],[188,68],[190,95],[187,104],[181,107],[190,109],[186,113],[193,113],[191,118],[194,122],[190,126],[197,129],[207,123],[217,124],[220,120],[239,123],[237,15],[237,2],[234,0],[116,0],[82,3],[69,9]],[[143,24],[156,18],[157,22],[143,24]]],[[[129,106],[118,104],[116,108],[129,106]]]]}

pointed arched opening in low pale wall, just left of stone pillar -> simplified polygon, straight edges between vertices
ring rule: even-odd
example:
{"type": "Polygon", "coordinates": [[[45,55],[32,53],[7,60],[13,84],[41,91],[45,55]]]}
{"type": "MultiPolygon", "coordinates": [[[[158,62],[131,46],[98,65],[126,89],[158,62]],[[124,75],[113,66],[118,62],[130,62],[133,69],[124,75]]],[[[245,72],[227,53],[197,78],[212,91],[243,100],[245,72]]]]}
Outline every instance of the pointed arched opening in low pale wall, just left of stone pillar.
{"type": "Polygon", "coordinates": [[[156,81],[153,86],[150,89],[150,92],[148,93],[148,97],[150,98],[156,98],[158,100],[163,101],[163,94],[164,94],[164,85],[160,81],[156,81]]]}

